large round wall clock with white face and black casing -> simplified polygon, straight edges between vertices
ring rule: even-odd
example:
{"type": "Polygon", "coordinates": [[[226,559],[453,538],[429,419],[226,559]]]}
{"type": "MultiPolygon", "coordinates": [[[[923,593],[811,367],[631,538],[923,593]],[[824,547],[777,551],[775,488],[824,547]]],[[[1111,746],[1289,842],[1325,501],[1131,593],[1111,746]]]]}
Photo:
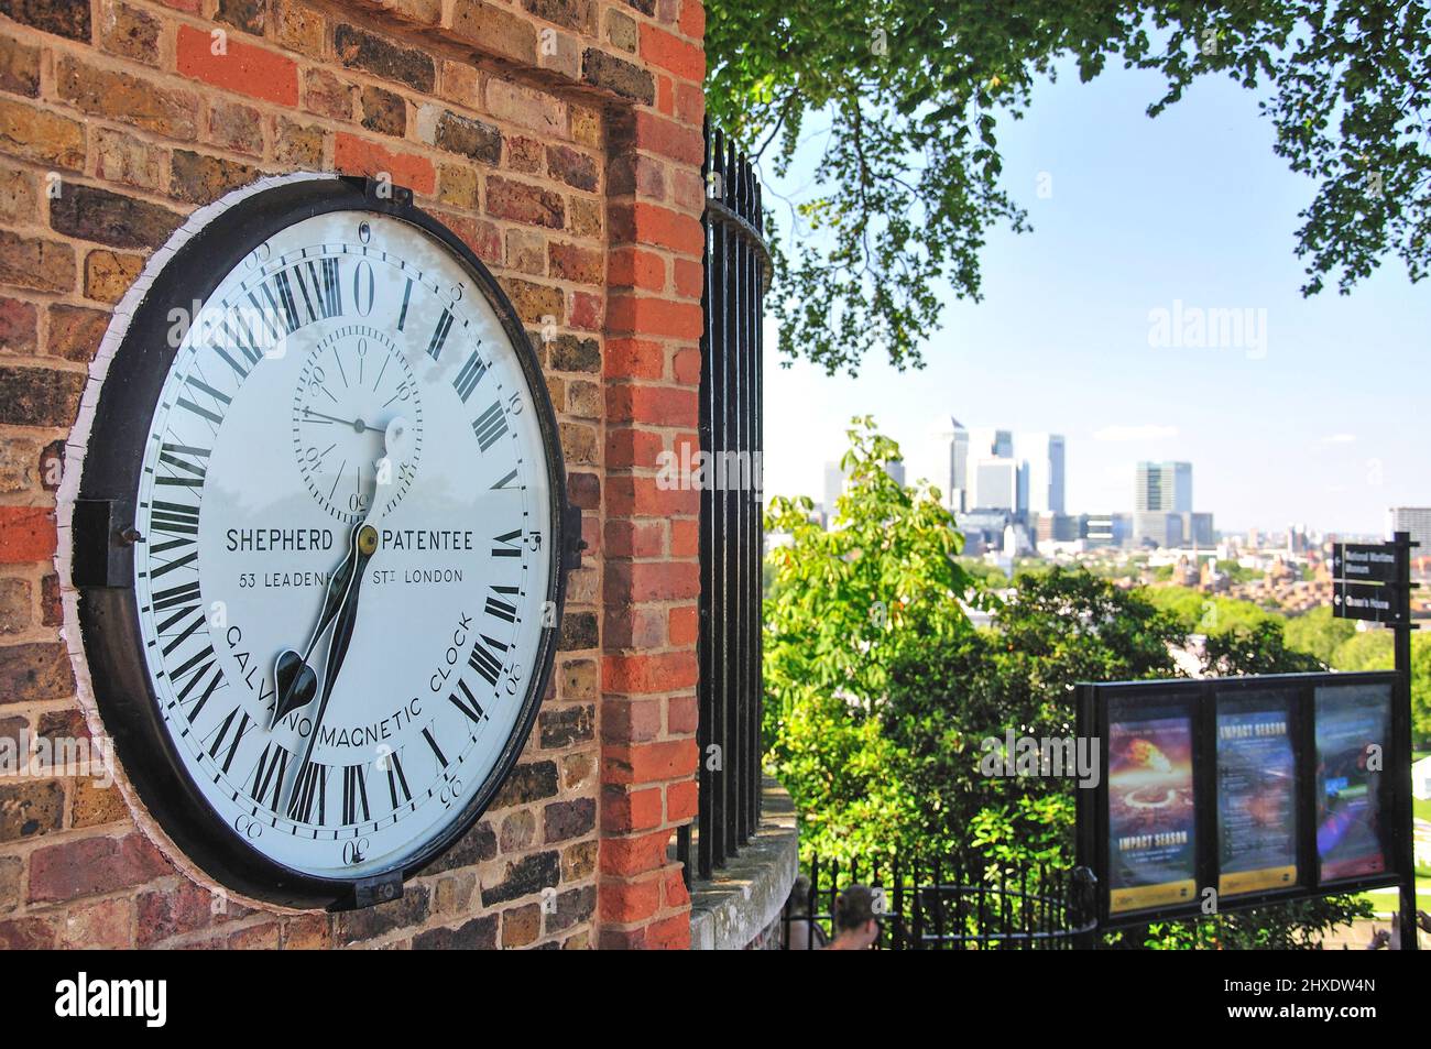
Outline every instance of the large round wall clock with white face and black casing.
{"type": "Polygon", "coordinates": [[[580,562],[515,311],[409,190],[273,177],[156,252],[100,374],[73,613],[139,800],[245,896],[396,897],[515,764],[580,562]]]}

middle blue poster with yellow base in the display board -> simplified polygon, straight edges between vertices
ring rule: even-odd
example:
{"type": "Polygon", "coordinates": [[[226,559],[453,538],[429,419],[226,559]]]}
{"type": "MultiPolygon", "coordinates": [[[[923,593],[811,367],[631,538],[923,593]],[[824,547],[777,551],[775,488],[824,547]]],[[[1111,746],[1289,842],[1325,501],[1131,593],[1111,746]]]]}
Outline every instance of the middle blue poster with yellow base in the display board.
{"type": "Polygon", "coordinates": [[[1218,894],[1296,886],[1296,754],[1286,693],[1218,698],[1218,894]]]}

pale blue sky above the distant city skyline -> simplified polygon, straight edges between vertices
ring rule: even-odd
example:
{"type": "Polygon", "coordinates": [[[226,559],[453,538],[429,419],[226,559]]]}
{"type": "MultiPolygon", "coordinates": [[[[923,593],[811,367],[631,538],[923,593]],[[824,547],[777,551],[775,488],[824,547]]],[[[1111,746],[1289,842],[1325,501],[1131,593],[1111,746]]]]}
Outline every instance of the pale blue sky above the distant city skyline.
{"type": "MultiPolygon", "coordinates": [[[[985,299],[946,289],[923,371],[880,353],[857,378],[787,369],[767,323],[767,497],[819,502],[850,416],[871,414],[912,465],[940,415],[1063,434],[1073,514],[1132,509],[1139,459],[1192,462],[1195,509],[1222,531],[1379,534],[1388,507],[1431,505],[1431,282],[1392,256],[1351,296],[1304,299],[1296,212],[1314,183],[1272,153],[1256,97],[1209,77],[1149,119],[1159,84],[1062,72],[1023,120],[1000,119],[1005,183],[1033,232],[990,232],[985,299]],[[1239,346],[1151,345],[1155,311],[1178,302],[1183,319],[1251,311],[1254,328],[1239,346]]],[[[807,193],[817,145],[786,179],[767,165],[766,183],[807,193]]]]}

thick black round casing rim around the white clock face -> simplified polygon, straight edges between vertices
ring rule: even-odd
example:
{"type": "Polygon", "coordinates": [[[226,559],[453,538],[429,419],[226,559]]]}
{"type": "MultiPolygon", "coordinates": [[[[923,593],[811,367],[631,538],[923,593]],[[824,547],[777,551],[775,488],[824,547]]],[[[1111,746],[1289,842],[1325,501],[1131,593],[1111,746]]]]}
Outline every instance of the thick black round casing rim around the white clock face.
{"type": "Polygon", "coordinates": [[[239,200],[179,246],[135,309],[110,362],[80,475],[72,547],[80,633],[100,717],[140,801],[189,860],[233,892],[256,900],[345,910],[396,899],[406,879],[432,864],[475,826],[515,767],[551,681],[565,604],[565,570],[572,565],[572,551],[580,542],[580,518],[567,507],[558,434],[541,365],[511,301],[467,243],[416,208],[405,187],[349,176],[285,182],[239,200]],[[426,233],[451,252],[497,312],[521,362],[547,454],[552,532],[547,547],[551,567],[547,600],[555,607],[555,618],[542,628],[537,673],[517,723],[481,787],[405,863],[361,879],[315,877],[276,863],[248,844],[210,806],[185,770],[159,714],[143,654],[133,567],[123,570],[127,542],[123,532],[133,524],[149,425],[177,353],[177,346],[169,345],[169,311],[206,302],[223,276],[282,229],[341,210],[386,215],[426,233]],[[106,509],[96,514],[94,507],[106,509]]]}

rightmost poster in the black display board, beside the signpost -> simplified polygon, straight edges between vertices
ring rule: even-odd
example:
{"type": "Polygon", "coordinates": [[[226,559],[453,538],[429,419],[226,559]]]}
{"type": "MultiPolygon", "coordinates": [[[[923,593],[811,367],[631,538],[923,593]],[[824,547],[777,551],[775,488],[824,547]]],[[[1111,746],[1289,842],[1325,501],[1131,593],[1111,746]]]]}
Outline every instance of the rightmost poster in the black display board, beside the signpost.
{"type": "Polygon", "coordinates": [[[1317,857],[1321,880],[1387,872],[1381,766],[1391,757],[1391,685],[1317,688],[1317,857]]]}

